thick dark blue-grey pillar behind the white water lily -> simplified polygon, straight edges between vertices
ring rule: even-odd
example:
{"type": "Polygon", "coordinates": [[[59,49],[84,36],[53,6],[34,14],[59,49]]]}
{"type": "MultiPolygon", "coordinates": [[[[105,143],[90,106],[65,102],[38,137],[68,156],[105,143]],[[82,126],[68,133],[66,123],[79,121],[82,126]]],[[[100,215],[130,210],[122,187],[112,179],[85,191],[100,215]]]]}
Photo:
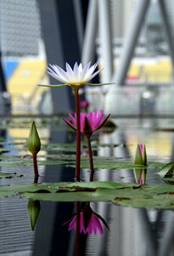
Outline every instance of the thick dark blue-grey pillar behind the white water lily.
{"type": "MultiPolygon", "coordinates": [[[[48,63],[65,68],[81,61],[74,2],[38,0],[42,32],[48,63]]],[[[52,84],[58,83],[50,78],[52,84]]],[[[74,96],[68,86],[50,89],[54,113],[67,113],[75,108],[74,96]]]]}

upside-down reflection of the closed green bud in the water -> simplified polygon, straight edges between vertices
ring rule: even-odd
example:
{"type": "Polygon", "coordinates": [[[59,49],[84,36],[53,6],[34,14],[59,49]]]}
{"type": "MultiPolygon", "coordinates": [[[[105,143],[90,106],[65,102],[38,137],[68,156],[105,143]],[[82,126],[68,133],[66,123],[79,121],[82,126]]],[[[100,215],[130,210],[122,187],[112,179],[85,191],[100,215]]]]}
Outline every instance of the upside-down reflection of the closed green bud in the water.
{"type": "Polygon", "coordinates": [[[41,210],[40,201],[30,200],[27,205],[27,212],[31,223],[31,230],[35,229],[36,220],[39,216],[39,212],[41,210]]]}

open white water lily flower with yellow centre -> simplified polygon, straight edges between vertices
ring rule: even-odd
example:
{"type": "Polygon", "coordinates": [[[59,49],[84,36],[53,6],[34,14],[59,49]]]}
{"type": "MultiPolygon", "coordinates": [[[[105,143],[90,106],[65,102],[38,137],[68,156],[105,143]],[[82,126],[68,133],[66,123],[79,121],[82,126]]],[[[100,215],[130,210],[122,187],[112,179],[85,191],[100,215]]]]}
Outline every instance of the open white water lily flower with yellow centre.
{"type": "Polygon", "coordinates": [[[48,67],[48,74],[54,79],[59,80],[64,84],[70,86],[81,86],[82,84],[87,83],[89,80],[93,79],[102,69],[99,69],[94,73],[94,70],[98,66],[96,62],[93,66],[90,67],[91,62],[88,62],[85,67],[82,67],[82,64],[78,66],[77,62],[75,63],[73,69],[68,63],[66,63],[66,70],[63,70],[58,65],[51,65],[48,67]]]}

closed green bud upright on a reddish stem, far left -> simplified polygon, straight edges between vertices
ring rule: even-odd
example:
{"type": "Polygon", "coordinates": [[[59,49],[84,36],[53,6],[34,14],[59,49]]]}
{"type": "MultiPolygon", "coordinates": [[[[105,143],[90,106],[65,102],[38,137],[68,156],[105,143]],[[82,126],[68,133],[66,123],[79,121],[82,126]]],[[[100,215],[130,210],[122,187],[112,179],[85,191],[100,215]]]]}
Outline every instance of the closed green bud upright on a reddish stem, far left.
{"type": "Polygon", "coordinates": [[[28,149],[31,151],[31,154],[37,154],[41,149],[41,141],[36,131],[36,125],[33,121],[31,124],[31,130],[28,137],[28,149]]]}

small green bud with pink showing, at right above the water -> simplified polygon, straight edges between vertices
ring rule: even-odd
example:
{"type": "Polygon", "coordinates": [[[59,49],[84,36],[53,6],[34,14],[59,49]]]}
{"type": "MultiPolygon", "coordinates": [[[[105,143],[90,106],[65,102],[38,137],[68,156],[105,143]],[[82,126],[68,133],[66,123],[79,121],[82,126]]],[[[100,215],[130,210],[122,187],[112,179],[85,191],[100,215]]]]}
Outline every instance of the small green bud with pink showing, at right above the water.
{"type": "Polygon", "coordinates": [[[147,155],[145,144],[138,144],[134,159],[135,165],[147,166],[147,155]]]}

